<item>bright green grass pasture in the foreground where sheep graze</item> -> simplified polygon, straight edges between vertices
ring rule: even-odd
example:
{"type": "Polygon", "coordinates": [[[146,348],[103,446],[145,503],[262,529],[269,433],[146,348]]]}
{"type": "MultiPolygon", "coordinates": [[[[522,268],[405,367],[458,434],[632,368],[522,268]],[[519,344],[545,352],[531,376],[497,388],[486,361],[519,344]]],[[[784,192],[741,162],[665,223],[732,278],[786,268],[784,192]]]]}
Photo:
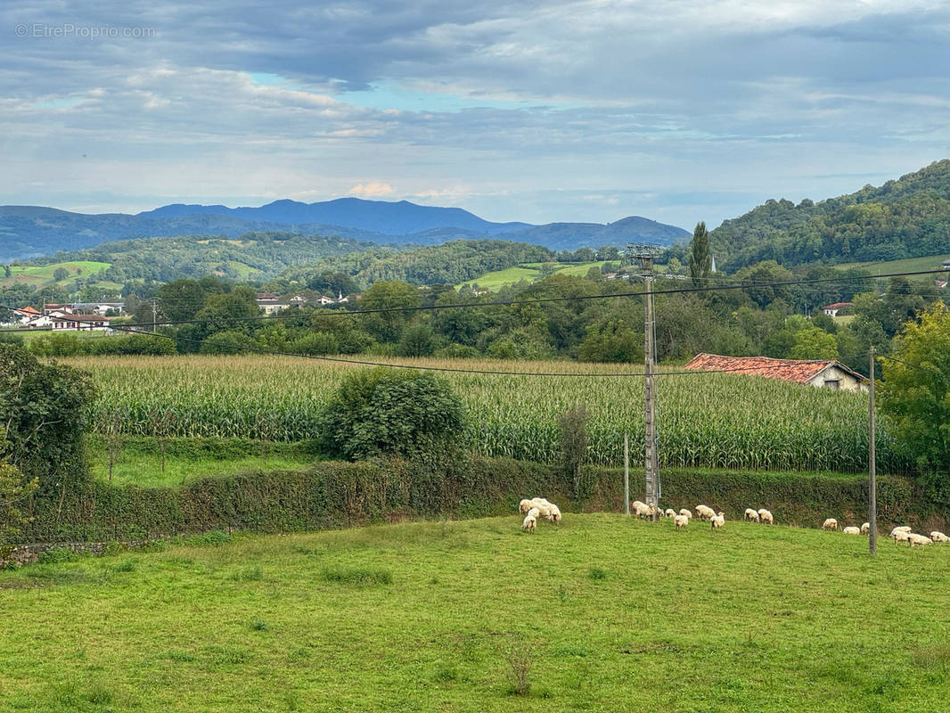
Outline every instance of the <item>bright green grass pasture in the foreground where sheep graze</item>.
{"type": "Polygon", "coordinates": [[[571,513],[218,540],[0,572],[0,710],[947,709],[950,548],[571,513]]]}

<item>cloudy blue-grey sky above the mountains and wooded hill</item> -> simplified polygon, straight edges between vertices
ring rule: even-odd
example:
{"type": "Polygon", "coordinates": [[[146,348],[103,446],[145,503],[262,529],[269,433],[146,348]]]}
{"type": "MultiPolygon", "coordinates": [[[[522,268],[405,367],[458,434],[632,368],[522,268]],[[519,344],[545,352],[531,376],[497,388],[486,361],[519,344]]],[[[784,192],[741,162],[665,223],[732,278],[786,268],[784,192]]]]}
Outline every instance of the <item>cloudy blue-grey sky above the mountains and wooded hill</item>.
{"type": "Polygon", "coordinates": [[[692,230],[948,156],[940,2],[0,4],[0,204],[692,230]]]}

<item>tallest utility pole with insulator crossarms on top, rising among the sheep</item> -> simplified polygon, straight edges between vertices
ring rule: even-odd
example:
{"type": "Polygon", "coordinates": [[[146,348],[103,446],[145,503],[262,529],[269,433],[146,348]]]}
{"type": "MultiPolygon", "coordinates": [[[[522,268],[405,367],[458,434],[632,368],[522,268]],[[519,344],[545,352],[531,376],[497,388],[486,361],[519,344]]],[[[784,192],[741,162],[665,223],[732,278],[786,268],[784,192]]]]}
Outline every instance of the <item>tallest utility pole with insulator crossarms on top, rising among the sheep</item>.
{"type": "MultiPolygon", "coordinates": [[[[627,252],[637,259],[640,277],[643,278],[643,305],[645,321],[643,325],[643,399],[645,413],[644,434],[644,471],[646,480],[646,501],[658,510],[659,467],[656,460],[656,318],[654,317],[653,280],[654,258],[662,248],[649,244],[630,244],[627,252]]],[[[656,519],[656,514],[654,514],[656,519]]]]}

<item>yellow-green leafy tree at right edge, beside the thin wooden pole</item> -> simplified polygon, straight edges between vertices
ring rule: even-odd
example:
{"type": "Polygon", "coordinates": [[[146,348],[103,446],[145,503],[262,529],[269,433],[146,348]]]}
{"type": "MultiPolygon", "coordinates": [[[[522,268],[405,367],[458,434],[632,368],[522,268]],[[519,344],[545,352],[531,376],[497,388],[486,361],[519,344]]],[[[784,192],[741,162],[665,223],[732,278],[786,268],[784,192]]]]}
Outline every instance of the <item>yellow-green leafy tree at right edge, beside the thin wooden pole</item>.
{"type": "Polygon", "coordinates": [[[950,313],[941,302],[908,321],[895,339],[894,356],[883,360],[881,410],[888,430],[921,467],[942,473],[947,502],[950,472],[950,313]],[[906,362],[906,363],[903,363],[906,362]],[[910,366],[911,364],[915,366],[910,366]]]}

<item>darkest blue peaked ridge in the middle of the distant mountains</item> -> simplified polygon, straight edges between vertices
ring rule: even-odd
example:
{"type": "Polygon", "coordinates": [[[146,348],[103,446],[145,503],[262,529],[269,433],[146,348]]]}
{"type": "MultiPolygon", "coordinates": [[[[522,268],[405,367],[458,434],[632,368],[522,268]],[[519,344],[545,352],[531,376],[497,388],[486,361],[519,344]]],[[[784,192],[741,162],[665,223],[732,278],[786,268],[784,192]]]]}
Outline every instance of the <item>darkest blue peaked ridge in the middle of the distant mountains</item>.
{"type": "Polygon", "coordinates": [[[408,235],[432,228],[462,228],[482,235],[498,235],[531,227],[526,222],[488,222],[462,208],[439,208],[409,201],[364,201],[359,198],[338,198],[315,203],[284,199],[259,208],[175,203],[139,214],[148,218],[180,218],[185,215],[229,216],[244,221],[284,224],[320,222],[371,230],[383,235],[408,235]]]}

